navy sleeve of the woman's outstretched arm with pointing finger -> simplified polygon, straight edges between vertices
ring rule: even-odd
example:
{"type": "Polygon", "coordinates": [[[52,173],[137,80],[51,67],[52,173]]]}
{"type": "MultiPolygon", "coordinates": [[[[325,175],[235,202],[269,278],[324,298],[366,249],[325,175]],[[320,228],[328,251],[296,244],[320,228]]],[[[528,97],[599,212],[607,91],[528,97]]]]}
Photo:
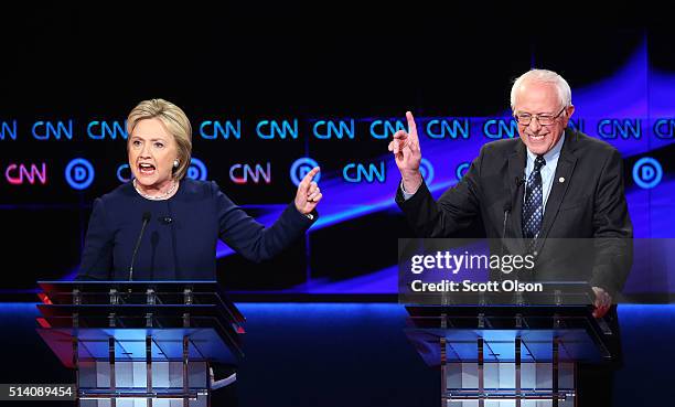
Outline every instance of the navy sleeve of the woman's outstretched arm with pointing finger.
{"type": "Polygon", "coordinates": [[[216,200],[219,237],[235,251],[253,261],[267,260],[288,246],[317,219],[308,218],[291,203],[270,227],[265,227],[235,205],[212,182],[216,200]]]}

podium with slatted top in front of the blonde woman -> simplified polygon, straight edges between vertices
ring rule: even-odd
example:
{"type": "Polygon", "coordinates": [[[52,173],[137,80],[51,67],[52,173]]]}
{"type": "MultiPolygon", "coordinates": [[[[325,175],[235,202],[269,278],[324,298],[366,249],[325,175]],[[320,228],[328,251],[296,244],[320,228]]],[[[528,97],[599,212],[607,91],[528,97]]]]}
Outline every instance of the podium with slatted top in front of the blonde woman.
{"type": "Polygon", "coordinates": [[[38,333],[83,407],[211,405],[212,364],[244,356],[244,315],[215,281],[40,281],[38,333]]]}

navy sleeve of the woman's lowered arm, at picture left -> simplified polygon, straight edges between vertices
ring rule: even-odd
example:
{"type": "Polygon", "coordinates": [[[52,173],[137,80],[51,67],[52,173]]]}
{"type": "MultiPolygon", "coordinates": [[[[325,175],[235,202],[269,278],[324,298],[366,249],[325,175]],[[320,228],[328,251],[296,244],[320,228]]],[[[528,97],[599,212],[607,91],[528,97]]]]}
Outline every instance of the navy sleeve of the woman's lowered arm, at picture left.
{"type": "Polygon", "coordinates": [[[108,280],[113,270],[114,235],[101,199],[94,201],[77,280],[108,280]]]}

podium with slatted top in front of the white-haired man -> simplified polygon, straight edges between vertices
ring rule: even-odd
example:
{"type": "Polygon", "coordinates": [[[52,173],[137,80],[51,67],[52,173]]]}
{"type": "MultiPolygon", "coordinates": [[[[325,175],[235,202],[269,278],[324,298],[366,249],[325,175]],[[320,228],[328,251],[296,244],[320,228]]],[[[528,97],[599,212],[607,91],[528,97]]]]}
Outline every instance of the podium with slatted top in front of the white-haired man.
{"type": "Polygon", "coordinates": [[[615,356],[589,304],[486,302],[406,306],[406,335],[439,369],[442,407],[572,407],[579,364],[615,356]]]}

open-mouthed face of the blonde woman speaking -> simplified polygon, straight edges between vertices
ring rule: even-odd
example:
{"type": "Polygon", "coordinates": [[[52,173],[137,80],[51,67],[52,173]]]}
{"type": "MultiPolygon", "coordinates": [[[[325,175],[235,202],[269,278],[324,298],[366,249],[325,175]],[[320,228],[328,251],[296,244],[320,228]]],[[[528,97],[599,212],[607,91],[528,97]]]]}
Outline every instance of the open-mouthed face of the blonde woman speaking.
{"type": "Polygon", "coordinates": [[[129,135],[129,168],[136,182],[147,189],[163,189],[172,178],[178,146],[157,118],[140,120],[129,135]]]}

